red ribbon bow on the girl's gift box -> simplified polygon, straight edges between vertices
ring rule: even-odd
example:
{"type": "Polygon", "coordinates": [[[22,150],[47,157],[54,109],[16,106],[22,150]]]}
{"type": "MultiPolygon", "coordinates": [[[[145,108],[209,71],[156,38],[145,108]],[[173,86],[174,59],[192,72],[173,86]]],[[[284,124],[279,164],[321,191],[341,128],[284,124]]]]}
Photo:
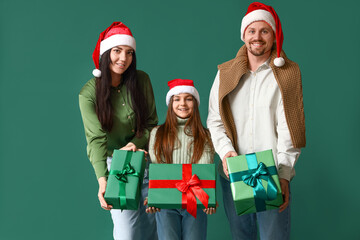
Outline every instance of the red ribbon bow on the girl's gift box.
{"type": "Polygon", "coordinates": [[[188,182],[182,180],[181,182],[176,183],[176,188],[186,194],[187,204],[186,209],[187,211],[193,215],[196,218],[196,198],[195,196],[200,200],[200,202],[205,206],[205,208],[208,207],[209,202],[209,195],[202,190],[200,187],[200,179],[196,174],[192,175],[190,180],[188,182]]]}

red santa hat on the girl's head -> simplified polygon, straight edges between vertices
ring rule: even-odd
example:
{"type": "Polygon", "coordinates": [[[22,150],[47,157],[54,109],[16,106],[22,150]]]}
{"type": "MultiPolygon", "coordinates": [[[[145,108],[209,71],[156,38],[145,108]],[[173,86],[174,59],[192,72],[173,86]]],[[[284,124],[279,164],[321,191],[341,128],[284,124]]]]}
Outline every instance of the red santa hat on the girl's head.
{"type": "Polygon", "coordinates": [[[168,82],[170,90],[166,94],[166,105],[169,105],[170,99],[174,95],[180,93],[190,93],[197,100],[198,105],[200,106],[200,95],[196,88],[194,87],[193,80],[190,79],[174,79],[168,82]]]}

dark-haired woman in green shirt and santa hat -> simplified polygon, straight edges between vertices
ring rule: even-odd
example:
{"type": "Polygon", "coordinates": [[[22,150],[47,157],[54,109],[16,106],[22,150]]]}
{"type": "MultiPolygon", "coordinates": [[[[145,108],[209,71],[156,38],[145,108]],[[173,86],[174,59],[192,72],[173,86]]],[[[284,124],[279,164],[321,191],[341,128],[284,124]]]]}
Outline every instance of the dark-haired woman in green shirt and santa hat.
{"type": "MultiPolygon", "coordinates": [[[[157,238],[155,218],[144,214],[142,204],[137,211],[121,212],[104,199],[113,150],[145,149],[158,122],[150,79],[136,70],[135,51],[130,29],[114,22],[100,34],[94,50],[95,78],[79,94],[87,153],[98,179],[100,205],[111,212],[114,239],[157,238]]],[[[142,196],[147,196],[147,171],[144,175],[142,196]]]]}

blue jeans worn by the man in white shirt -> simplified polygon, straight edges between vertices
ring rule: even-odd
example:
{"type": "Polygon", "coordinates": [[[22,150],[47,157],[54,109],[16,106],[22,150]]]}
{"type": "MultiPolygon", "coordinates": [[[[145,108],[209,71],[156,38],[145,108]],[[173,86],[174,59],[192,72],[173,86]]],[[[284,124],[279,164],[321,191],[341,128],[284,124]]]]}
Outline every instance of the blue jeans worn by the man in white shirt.
{"type": "Polygon", "coordinates": [[[279,213],[279,209],[273,209],[238,216],[235,211],[230,182],[221,176],[220,182],[232,239],[256,240],[257,229],[259,229],[261,240],[290,239],[290,204],[281,213],[279,213]]]}

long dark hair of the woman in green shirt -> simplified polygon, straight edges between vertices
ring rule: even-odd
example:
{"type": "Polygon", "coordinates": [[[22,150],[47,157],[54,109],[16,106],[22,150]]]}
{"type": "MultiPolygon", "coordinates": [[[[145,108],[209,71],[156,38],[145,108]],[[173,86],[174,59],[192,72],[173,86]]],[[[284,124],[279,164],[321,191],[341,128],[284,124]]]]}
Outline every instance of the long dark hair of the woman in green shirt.
{"type": "MultiPolygon", "coordinates": [[[[103,130],[110,132],[113,127],[114,109],[111,104],[111,73],[110,73],[110,52],[107,50],[101,56],[99,70],[101,77],[96,78],[96,114],[103,130]]],[[[132,62],[129,68],[123,73],[121,83],[125,84],[128,95],[131,97],[132,109],[136,117],[136,136],[140,137],[146,128],[148,107],[143,93],[140,89],[136,73],[136,55],[132,55],[132,62]]]]}

